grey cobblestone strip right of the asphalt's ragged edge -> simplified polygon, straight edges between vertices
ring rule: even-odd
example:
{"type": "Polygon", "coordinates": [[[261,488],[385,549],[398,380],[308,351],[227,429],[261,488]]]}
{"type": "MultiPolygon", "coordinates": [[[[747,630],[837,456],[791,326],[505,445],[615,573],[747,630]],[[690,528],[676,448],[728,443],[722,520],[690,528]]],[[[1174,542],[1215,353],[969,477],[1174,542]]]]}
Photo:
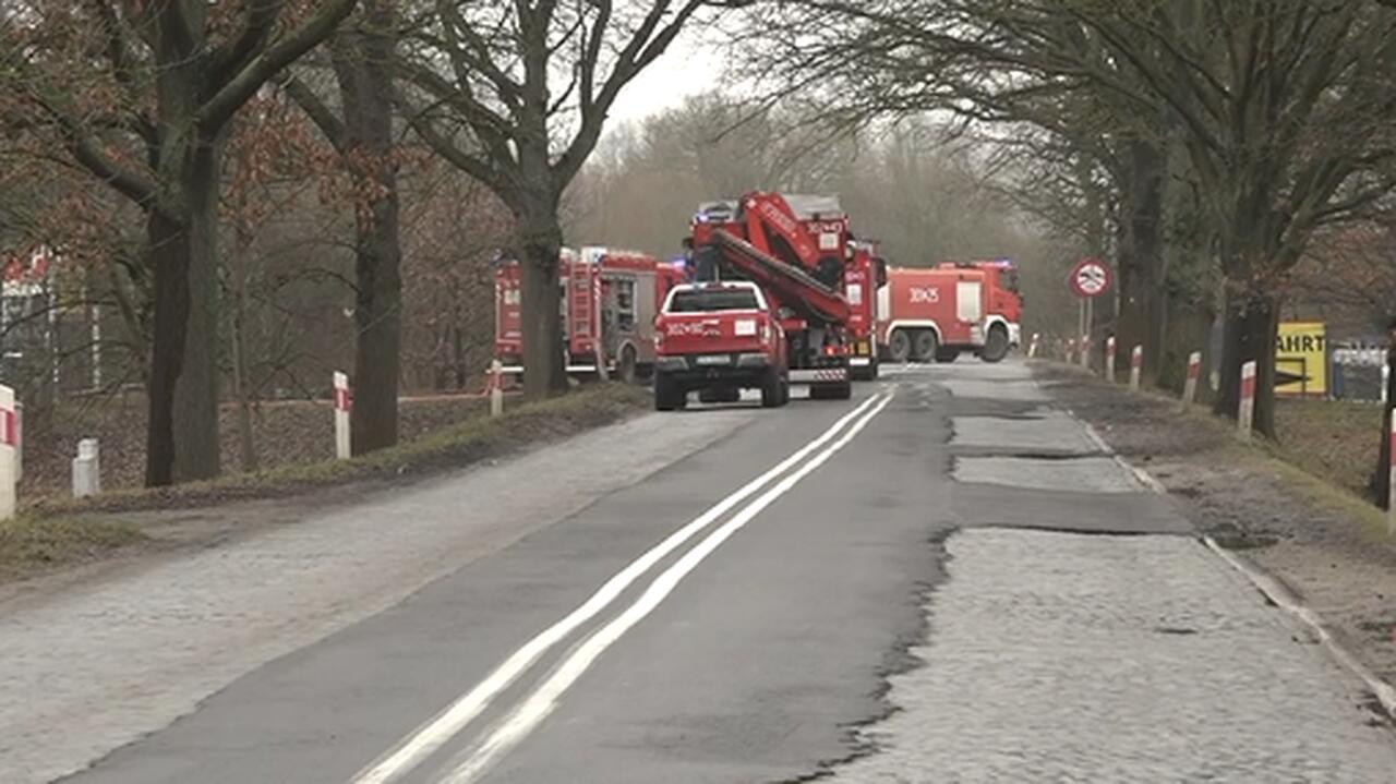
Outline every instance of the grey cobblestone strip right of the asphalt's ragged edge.
{"type": "MultiPolygon", "coordinates": [[[[956,398],[1048,399],[1027,384],[945,381],[956,398]]],[[[970,495],[910,651],[924,664],[889,678],[895,710],[859,732],[868,753],[832,766],[833,781],[995,781],[1029,766],[1054,780],[1390,777],[1390,730],[1361,710],[1371,684],[1177,512],[1139,526],[1131,508],[1159,515],[1161,485],[1089,425],[1047,406],[951,424],[953,492],[970,495]],[[1037,530],[1004,527],[987,490],[1037,509],[1037,530]],[[1120,519],[1078,530],[1106,499],[1120,519]]]]}

